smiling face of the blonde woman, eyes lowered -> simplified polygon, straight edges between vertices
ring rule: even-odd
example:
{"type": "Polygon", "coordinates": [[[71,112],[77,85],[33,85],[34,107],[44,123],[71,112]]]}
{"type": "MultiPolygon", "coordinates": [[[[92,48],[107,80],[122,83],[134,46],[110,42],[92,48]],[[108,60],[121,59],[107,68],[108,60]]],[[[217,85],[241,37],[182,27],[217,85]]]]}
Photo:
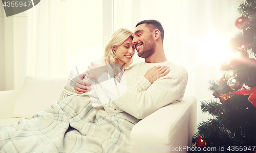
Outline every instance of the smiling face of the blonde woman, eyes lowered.
{"type": "Polygon", "coordinates": [[[120,46],[115,47],[116,56],[118,58],[117,64],[123,65],[124,63],[130,63],[135,53],[135,48],[132,43],[131,37],[127,38],[120,46]]]}

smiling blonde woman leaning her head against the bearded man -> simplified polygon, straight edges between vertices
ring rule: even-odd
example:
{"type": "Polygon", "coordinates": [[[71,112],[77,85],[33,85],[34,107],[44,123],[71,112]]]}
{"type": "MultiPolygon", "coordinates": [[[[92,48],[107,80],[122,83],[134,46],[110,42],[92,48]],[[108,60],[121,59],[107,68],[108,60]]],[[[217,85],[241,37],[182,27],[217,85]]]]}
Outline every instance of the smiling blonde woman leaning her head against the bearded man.
{"type": "MultiPolygon", "coordinates": [[[[75,92],[77,93],[77,96],[90,97],[92,106],[95,107],[96,110],[105,110],[110,114],[123,112],[119,107],[117,107],[113,102],[111,102],[110,98],[108,97],[108,95],[105,94],[105,92],[102,90],[101,85],[97,81],[98,81],[98,77],[103,72],[108,72],[108,69],[111,69],[111,72],[113,71],[113,73],[112,74],[109,73],[110,77],[114,76],[114,78],[120,83],[120,79],[124,73],[124,70],[130,67],[130,65],[133,62],[132,57],[135,54],[135,48],[132,43],[132,40],[133,40],[132,34],[133,32],[127,29],[116,30],[111,36],[111,40],[108,42],[108,44],[105,47],[104,56],[94,61],[94,68],[96,68],[97,70],[87,71],[87,73],[80,75],[81,78],[78,77],[75,81],[75,82],[79,82],[80,84],[82,83],[85,84],[86,82],[91,84],[91,88],[87,90],[79,89],[79,91],[84,92],[82,93],[78,91],[78,88],[81,85],[79,83],[75,83],[74,85],[75,92]],[[102,67],[103,65],[105,66],[102,67]],[[109,68],[108,68],[108,65],[109,65],[109,68]],[[90,75],[88,73],[90,73],[90,75]],[[83,81],[81,80],[82,78],[83,78],[83,81]]],[[[167,68],[165,70],[167,70],[167,68]]],[[[146,78],[150,79],[152,77],[149,75],[146,78]]],[[[153,82],[151,81],[151,83],[153,82]]],[[[62,97],[67,97],[72,94],[70,93],[69,95],[65,95],[65,93],[69,92],[66,89],[69,89],[70,91],[74,92],[74,89],[72,88],[72,86],[66,85],[64,91],[61,94],[62,97]]]]}

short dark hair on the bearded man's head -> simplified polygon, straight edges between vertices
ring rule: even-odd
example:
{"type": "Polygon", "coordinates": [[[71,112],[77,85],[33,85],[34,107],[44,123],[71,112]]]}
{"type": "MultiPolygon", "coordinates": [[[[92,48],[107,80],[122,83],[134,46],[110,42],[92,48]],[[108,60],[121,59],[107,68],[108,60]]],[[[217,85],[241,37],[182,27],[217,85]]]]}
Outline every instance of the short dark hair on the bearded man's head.
{"type": "Polygon", "coordinates": [[[150,28],[151,32],[154,31],[155,29],[158,29],[161,32],[161,39],[162,39],[162,42],[163,42],[164,30],[163,30],[162,24],[159,21],[157,21],[155,19],[143,20],[143,21],[140,21],[136,25],[136,27],[138,27],[141,24],[146,24],[146,26],[148,28],[150,28]]]}

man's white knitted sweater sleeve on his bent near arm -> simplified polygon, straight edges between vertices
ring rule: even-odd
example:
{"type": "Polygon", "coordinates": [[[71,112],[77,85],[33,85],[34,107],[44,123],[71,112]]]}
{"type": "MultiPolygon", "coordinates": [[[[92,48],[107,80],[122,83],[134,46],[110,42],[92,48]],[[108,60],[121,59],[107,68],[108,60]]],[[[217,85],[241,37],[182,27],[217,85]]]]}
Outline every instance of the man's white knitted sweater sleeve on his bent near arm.
{"type": "Polygon", "coordinates": [[[184,68],[176,70],[176,75],[164,76],[153,84],[143,76],[137,77],[127,87],[117,81],[117,85],[115,85],[113,78],[100,84],[114,104],[135,118],[143,119],[159,108],[173,103],[183,96],[188,75],[184,68]],[[118,97],[118,93],[115,91],[119,91],[118,97]]]}

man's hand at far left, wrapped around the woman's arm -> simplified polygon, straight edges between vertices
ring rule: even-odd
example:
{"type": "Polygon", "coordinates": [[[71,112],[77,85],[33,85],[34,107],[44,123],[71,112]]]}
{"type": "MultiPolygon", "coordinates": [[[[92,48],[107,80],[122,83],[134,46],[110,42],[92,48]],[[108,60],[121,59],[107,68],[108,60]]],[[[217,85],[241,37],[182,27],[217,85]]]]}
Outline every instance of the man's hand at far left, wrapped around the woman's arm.
{"type": "Polygon", "coordinates": [[[87,93],[90,90],[92,90],[89,86],[91,86],[91,83],[83,81],[84,76],[86,74],[80,74],[79,76],[76,77],[75,82],[74,82],[74,89],[77,94],[83,94],[87,93]]]}

